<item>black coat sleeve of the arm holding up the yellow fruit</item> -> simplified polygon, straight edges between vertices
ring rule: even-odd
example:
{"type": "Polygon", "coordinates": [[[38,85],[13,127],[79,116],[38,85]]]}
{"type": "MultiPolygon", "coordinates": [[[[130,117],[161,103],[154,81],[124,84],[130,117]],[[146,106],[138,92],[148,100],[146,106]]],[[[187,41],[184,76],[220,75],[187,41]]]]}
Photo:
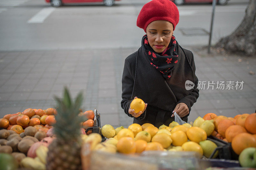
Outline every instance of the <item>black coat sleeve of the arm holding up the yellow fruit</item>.
{"type": "MultiPolygon", "coordinates": [[[[130,108],[130,104],[132,103],[132,99],[135,97],[135,96],[132,97],[133,85],[134,85],[134,77],[132,76],[132,68],[129,61],[125,59],[124,71],[123,71],[123,77],[122,77],[121,107],[124,109],[125,114],[127,114],[129,117],[133,117],[128,112],[130,108]]],[[[134,118],[138,120],[142,120],[145,118],[145,116],[146,116],[146,110],[139,117],[134,117],[134,118]]]]}

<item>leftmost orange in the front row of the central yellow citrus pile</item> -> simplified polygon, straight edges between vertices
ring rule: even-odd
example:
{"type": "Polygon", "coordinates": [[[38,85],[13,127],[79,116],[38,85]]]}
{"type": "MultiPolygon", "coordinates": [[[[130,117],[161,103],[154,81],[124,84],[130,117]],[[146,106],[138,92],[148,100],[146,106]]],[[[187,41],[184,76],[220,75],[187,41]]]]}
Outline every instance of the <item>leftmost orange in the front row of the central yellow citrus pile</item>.
{"type": "Polygon", "coordinates": [[[136,152],[136,144],[131,137],[123,137],[119,139],[116,147],[117,151],[121,153],[130,154],[136,152]]]}

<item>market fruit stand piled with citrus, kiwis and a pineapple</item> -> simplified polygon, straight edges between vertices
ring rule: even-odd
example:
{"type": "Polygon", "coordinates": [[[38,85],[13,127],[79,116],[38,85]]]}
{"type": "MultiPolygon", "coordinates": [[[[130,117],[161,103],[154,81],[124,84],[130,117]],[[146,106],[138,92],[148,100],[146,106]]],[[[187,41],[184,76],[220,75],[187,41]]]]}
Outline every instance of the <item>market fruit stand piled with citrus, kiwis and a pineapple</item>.
{"type": "Polygon", "coordinates": [[[56,109],[28,108],[0,119],[0,169],[246,169],[256,164],[256,158],[245,160],[246,152],[255,149],[256,155],[256,113],[234,118],[207,113],[189,124],[114,129],[101,127],[100,110],[79,109],[81,95],[73,102],[66,90],[56,100],[56,109]]]}

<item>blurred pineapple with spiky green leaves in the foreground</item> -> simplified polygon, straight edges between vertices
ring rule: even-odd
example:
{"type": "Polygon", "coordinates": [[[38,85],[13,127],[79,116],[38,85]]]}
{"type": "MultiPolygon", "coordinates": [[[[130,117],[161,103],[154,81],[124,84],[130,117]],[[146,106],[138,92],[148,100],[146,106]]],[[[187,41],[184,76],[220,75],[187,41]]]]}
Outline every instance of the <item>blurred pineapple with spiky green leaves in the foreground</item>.
{"type": "Polygon", "coordinates": [[[81,138],[80,122],[78,116],[82,103],[82,93],[76,97],[75,103],[71,101],[68,89],[64,90],[64,98],[57,101],[56,124],[54,124],[54,134],[56,139],[49,145],[46,169],[48,170],[75,170],[81,167],[81,138]]]}

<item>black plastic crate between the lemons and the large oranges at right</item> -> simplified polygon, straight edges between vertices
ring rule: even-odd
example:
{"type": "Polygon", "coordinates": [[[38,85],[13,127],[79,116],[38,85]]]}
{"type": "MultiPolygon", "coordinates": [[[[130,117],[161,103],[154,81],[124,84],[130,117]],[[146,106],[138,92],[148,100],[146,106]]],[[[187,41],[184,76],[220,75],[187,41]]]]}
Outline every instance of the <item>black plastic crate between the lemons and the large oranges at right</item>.
{"type": "Polygon", "coordinates": [[[218,159],[229,159],[229,160],[238,160],[239,155],[237,155],[232,147],[231,143],[227,143],[219,138],[216,138],[214,136],[207,137],[208,140],[211,140],[214,142],[218,147],[215,148],[215,150],[212,152],[209,159],[212,159],[213,155],[218,151],[218,159]]]}

